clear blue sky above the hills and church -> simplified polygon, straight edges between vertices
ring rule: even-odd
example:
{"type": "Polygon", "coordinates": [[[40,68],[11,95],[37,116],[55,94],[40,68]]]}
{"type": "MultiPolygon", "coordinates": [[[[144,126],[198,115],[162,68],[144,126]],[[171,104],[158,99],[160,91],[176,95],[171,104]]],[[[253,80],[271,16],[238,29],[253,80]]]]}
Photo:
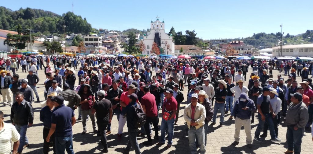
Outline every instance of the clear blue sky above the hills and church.
{"type": "Polygon", "coordinates": [[[195,30],[202,39],[238,38],[259,32],[296,35],[313,29],[312,0],[14,0],[1,6],[18,10],[37,8],[86,17],[94,28],[139,30],[150,28],[151,19],[165,21],[165,31],[195,30]]]}

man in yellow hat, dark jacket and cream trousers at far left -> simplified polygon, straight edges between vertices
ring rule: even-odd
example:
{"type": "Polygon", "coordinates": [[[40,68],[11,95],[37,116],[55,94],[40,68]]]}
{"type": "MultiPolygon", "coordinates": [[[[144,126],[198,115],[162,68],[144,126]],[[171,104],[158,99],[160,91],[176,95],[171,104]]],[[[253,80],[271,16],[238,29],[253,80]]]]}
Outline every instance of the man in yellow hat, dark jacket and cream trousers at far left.
{"type": "Polygon", "coordinates": [[[6,70],[1,70],[0,71],[1,77],[0,77],[0,91],[3,97],[3,105],[2,106],[6,106],[6,105],[10,105],[12,106],[13,104],[13,93],[11,91],[11,89],[9,88],[10,84],[12,83],[12,79],[10,76],[7,76],[7,71],[6,70]],[[8,98],[8,102],[7,102],[7,98],[8,98]]]}

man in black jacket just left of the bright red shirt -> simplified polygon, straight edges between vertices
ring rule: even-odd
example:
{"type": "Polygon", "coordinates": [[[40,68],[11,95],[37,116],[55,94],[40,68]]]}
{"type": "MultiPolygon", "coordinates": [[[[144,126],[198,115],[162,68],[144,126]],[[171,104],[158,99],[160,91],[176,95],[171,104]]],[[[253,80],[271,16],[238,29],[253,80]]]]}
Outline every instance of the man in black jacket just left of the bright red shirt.
{"type": "MultiPolygon", "coordinates": [[[[121,105],[120,105],[120,98],[121,98],[121,94],[123,93],[123,90],[118,88],[118,83],[117,81],[113,81],[112,82],[112,87],[111,89],[109,89],[107,95],[106,95],[106,99],[109,99],[110,102],[112,103],[112,109],[113,109],[113,113],[112,113],[112,117],[113,114],[115,113],[117,116],[117,120],[120,120],[120,114],[121,114],[121,105]]],[[[110,117],[112,119],[112,117],[110,117]]],[[[111,123],[108,124],[108,130],[106,131],[106,135],[111,133],[111,123]]]]}

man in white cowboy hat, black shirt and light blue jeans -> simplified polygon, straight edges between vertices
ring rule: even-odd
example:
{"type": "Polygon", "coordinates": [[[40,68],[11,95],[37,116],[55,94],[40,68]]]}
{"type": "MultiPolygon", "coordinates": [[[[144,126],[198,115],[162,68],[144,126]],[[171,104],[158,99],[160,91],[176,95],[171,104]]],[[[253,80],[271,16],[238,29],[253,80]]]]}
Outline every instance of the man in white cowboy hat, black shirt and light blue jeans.
{"type": "Polygon", "coordinates": [[[213,123],[211,125],[216,124],[216,115],[218,113],[218,110],[221,112],[221,119],[220,119],[220,127],[223,126],[224,123],[224,109],[225,109],[225,99],[227,96],[227,84],[224,80],[218,80],[218,88],[215,89],[215,104],[214,104],[214,110],[213,110],[213,123]]]}

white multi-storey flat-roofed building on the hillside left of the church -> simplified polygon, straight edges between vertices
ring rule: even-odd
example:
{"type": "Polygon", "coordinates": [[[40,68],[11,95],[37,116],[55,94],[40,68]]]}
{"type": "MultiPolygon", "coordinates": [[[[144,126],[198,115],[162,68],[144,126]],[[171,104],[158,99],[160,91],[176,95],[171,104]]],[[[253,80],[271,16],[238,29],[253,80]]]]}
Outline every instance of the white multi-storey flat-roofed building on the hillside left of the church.
{"type": "Polygon", "coordinates": [[[102,37],[93,34],[93,35],[85,35],[84,36],[84,43],[86,48],[86,54],[89,53],[99,53],[102,52],[102,37]]]}

